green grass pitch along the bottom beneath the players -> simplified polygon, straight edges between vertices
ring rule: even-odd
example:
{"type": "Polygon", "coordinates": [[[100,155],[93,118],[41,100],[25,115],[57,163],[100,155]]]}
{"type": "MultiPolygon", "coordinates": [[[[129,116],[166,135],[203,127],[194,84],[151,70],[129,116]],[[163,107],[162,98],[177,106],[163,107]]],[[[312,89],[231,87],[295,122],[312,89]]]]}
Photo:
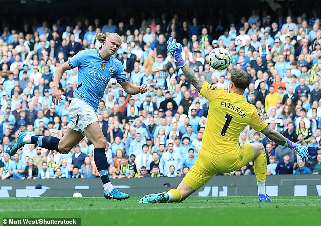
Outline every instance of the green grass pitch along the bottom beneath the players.
{"type": "Polygon", "coordinates": [[[139,204],[104,198],[1,198],[2,217],[81,217],[82,225],[321,225],[321,197],[191,197],[139,204]]]}

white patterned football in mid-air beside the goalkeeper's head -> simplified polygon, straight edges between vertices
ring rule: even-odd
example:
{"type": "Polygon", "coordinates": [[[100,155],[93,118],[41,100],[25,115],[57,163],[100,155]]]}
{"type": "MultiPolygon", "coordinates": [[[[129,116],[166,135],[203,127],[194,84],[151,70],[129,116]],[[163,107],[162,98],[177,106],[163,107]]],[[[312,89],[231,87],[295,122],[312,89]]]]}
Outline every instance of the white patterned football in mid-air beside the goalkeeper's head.
{"type": "Polygon", "coordinates": [[[214,70],[224,70],[231,63],[231,56],[227,49],[217,47],[209,53],[209,64],[214,70]]]}

